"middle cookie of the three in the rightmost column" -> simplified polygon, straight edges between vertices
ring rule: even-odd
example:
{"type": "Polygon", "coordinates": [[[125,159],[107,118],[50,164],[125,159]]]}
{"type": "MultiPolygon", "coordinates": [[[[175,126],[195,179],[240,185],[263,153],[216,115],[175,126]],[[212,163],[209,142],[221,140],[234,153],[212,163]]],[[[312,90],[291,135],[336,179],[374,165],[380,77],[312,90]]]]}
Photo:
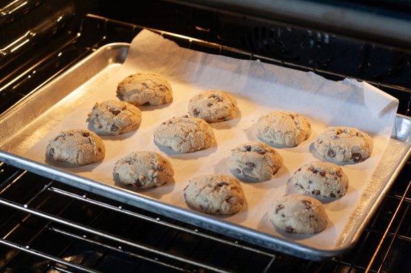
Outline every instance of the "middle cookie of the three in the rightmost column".
{"type": "Polygon", "coordinates": [[[301,194],[341,197],[348,189],[348,177],[337,164],[314,161],[305,164],[292,176],[301,194]]]}

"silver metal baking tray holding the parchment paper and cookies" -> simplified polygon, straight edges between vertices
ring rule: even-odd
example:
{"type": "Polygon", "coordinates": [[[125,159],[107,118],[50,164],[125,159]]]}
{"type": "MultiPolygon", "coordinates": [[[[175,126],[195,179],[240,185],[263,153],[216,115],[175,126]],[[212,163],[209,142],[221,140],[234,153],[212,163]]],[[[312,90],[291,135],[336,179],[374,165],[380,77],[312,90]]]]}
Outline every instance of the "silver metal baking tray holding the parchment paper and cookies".
{"type": "Polygon", "coordinates": [[[303,259],[321,260],[336,257],[353,248],[384,195],[395,181],[399,170],[411,155],[411,118],[397,114],[395,127],[382,159],[367,181],[355,209],[332,250],[311,248],[291,239],[267,235],[258,230],[168,205],[153,198],[127,192],[119,187],[105,185],[24,158],[23,155],[29,148],[90,96],[93,86],[99,86],[109,75],[119,69],[125,61],[128,49],[129,44],[125,43],[108,44],[101,47],[66,73],[2,114],[0,116],[0,160],[88,192],[113,198],[258,246],[303,259]],[[82,88],[82,86],[88,86],[88,88],[82,88]]]}

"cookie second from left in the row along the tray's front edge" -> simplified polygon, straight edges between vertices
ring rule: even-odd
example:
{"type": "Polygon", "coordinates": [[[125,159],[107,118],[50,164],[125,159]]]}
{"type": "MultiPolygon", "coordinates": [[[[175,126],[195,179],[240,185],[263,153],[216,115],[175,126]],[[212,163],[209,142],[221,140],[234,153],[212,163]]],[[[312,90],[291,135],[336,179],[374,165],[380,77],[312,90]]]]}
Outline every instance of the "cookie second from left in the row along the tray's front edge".
{"type": "Polygon", "coordinates": [[[114,175],[121,183],[144,190],[160,187],[173,180],[174,170],[168,159],[151,151],[138,151],[119,159],[114,165],[114,175]]]}

